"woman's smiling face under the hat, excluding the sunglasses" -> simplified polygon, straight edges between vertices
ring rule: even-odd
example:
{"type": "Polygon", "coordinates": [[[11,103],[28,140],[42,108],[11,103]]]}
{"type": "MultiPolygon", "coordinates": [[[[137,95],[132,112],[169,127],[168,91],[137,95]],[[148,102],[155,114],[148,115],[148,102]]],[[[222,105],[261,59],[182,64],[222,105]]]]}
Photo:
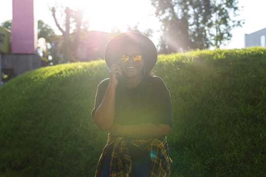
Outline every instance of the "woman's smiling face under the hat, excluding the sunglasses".
{"type": "Polygon", "coordinates": [[[141,60],[134,62],[132,57],[142,56],[142,50],[133,44],[125,45],[124,49],[122,49],[121,58],[123,55],[129,56],[129,60],[125,63],[121,62],[122,75],[126,78],[141,77],[144,60],[141,58],[141,60]]]}

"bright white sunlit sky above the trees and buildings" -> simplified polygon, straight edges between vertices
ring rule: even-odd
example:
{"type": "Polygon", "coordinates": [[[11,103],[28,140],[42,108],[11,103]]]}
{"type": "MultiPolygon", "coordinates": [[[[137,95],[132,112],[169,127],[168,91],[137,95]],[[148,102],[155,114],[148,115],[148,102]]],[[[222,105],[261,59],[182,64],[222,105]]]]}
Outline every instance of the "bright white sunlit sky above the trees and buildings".
{"type": "MultiPolygon", "coordinates": [[[[138,24],[140,31],[147,28],[154,29],[156,33],[151,40],[158,43],[160,23],[156,17],[150,15],[154,9],[150,6],[149,0],[35,0],[35,19],[41,19],[57,30],[49,8],[60,5],[69,6],[72,9],[82,8],[84,17],[89,19],[89,30],[109,32],[117,26],[121,31],[125,31],[128,25],[138,24]]],[[[244,19],[245,24],[233,29],[233,37],[230,42],[222,46],[224,49],[243,48],[245,33],[249,34],[266,28],[266,21],[261,20],[265,16],[266,1],[239,0],[239,6],[243,7],[239,18],[244,19]]],[[[2,1],[0,3],[0,24],[10,19],[12,19],[12,0],[2,1]]]]}

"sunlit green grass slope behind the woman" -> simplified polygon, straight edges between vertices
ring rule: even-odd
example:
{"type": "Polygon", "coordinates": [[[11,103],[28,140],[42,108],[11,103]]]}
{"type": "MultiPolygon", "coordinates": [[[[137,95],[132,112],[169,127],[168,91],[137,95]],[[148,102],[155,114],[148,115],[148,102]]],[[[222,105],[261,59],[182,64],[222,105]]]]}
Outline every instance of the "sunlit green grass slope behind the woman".
{"type": "MultiPolygon", "coordinates": [[[[171,93],[171,176],[266,175],[266,49],[161,55],[171,93]]],[[[26,72],[0,87],[0,176],[93,176],[103,60],[26,72]]]]}

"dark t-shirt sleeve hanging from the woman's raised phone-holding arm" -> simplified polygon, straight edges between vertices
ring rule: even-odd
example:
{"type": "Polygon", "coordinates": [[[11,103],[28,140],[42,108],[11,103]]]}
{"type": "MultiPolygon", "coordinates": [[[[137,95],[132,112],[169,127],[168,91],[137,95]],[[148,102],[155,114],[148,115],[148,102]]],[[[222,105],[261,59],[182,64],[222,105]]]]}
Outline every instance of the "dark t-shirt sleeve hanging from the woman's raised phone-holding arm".
{"type": "Polygon", "coordinates": [[[109,79],[104,79],[98,84],[97,92],[95,96],[94,108],[92,109],[92,112],[91,112],[92,120],[93,120],[95,111],[97,110],[97,108],[99,107],[99,105],[101,104],[104,98],[108,83],[109,83],[109,79]]]}

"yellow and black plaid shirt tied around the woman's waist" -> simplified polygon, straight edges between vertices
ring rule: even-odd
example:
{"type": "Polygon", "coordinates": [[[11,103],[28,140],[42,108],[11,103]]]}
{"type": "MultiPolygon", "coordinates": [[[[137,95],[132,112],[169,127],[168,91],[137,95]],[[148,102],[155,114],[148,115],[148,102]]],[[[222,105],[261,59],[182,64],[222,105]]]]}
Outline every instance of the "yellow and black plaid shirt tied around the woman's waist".
{"type": "Polygon", "coordinates": [[[95,177],[100,175],[103,157],[111,151],[110,177],[129,177],[132,161],[127,144],[130,143],[149,152],[151,161],[151,177],[166,177],[170,175],[172,160],[169,157],[169,147],[166,137],[155,139],[133,139],[128,137],[108,137],[103,148],[95,177]],[[111,149],[112,148],[112,149],[111,149]]]}

